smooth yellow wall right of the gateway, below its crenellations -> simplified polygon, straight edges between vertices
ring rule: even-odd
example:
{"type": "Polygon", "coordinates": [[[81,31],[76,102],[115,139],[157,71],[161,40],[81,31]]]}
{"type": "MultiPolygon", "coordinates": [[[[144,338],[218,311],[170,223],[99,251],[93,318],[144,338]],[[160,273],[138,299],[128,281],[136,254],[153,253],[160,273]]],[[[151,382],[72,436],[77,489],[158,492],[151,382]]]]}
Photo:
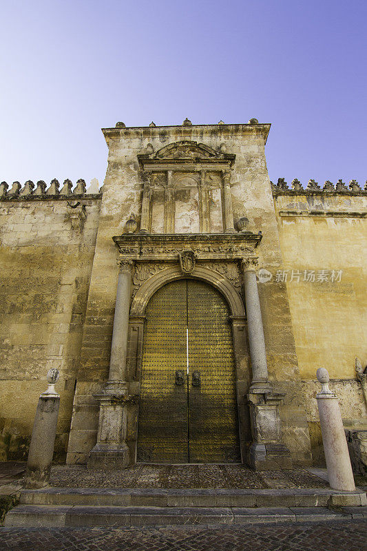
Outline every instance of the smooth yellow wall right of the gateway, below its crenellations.
{"type": "MultiPolygon", "coordinates": [[[[317,368],[326,367],[330,373],[344,424],[366,423],[367,418],[355,372],[355,357],[363,367],[367,364],[367,198],[285,194],[275,197],[274,204],[313,461],[317,464],[323,461],[315,399],[319,391],[317,368]]],[[[272,275],[275,279],[284,277],[277,276],[276,271],[272,275]]]]}

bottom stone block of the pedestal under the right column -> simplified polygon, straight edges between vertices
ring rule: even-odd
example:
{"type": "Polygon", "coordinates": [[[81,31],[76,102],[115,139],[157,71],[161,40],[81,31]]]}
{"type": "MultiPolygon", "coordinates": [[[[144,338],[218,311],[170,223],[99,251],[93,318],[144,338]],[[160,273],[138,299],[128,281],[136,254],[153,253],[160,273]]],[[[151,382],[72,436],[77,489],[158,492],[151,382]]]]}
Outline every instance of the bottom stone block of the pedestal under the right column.
{"type": "Polygon", "coordinates": [[[282,470],[293,468],[291,454],[284,444],[258,444],[249,448],[248,464],[254,470],[282,470]]]}

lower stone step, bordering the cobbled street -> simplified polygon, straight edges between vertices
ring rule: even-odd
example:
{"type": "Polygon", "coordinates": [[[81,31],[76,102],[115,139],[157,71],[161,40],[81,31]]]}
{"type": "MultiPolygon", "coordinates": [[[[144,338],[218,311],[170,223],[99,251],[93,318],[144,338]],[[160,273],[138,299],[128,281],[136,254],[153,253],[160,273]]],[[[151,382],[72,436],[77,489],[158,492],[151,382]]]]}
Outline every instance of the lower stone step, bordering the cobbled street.
{"type": "Polygon", "coordinates": [[[163,526],[172,524],[256,524],[330,521],[367,517],[367,507],[114,507],[19,505],[5,526],[163,526]]]}

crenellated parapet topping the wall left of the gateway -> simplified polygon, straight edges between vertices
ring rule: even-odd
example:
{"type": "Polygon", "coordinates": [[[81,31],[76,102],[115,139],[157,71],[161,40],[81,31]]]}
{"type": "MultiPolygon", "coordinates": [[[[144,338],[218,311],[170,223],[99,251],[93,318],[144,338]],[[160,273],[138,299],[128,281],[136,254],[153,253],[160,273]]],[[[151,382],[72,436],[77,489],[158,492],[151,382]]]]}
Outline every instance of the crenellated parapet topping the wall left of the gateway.
{"type": "Polygon", "coordinates": [[[48,186],[43,180],[39,180],[36,185],[32,180],[27,180],[23,187],[21,183],[15,181],[12,185],[6,182],[0,183],[0,200],[65,200],[75,199],[99,199],[102,197],[102,188],[98,188],[98,180],[92,180],[88,189],[86,189],[85,180],[79,179],[73,189],[72,180],[68,178],[62,184],[54,178],[48,186]]]}

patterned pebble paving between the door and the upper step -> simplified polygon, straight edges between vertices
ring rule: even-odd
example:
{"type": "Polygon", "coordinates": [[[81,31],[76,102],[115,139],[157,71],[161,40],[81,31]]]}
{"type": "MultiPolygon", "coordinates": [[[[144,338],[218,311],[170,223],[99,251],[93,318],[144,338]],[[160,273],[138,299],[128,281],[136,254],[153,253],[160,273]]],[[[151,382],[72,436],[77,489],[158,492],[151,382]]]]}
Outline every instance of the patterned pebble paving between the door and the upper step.
{"type": "Polygon", "coordinates": [[[124,470],[52,467],[50,486],[72,488],[328,488],[306,469],[255,472],[243,465],[145,465],[124,470]]]}

